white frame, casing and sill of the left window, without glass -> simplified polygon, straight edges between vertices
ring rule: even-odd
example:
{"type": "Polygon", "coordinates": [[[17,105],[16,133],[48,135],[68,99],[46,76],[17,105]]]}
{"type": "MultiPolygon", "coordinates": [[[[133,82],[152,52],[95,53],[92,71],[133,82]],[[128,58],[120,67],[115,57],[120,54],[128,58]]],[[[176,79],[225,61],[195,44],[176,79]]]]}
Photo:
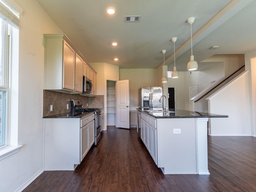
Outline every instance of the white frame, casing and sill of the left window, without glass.
{"type": "Polygon", "coordinates": [[[8,65],[6,67],[6,76],[4,87],[0,87],[0,90],[6,91],[6,145],[0,147],[0,160],[18,152],[22,145],[18,144],[18,44],[19,44],[19,14],[22,14],[23,10],[13,0],[0,0],[0,7],[3,8],[2,2],[5,3],[7,10],[1,10],[0,17],[8,23],[8,50],[6,51],[5,58],[8,65]],[[10,11],[11,10],[11,11],[10,11]],[[17,12],[18,10],[18,12],[17,12]],[[9,15],[15,12],[17,18],[15,21],[8,20],[9,15]],[[6,13],[6,15],[5,15],[6,13]],[[10,26],[11,25],[11,26],[10,26]],[[12,94],[14,92],[14,94],[12,94]],[[12,106],[11,106],[12,103],[12,106]]]}

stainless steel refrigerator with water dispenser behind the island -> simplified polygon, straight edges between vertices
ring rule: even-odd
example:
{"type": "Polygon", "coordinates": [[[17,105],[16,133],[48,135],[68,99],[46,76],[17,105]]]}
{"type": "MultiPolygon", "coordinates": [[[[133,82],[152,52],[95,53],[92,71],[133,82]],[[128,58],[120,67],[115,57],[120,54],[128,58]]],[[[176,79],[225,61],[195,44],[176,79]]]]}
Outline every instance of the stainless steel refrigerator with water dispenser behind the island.
{"type": "Polygon", "coordinates": [[[139,106],[144,109],[163,108],[163,102],[159,102],[163,95],[163,87],[141,87],[139,88],[139,106]]]}

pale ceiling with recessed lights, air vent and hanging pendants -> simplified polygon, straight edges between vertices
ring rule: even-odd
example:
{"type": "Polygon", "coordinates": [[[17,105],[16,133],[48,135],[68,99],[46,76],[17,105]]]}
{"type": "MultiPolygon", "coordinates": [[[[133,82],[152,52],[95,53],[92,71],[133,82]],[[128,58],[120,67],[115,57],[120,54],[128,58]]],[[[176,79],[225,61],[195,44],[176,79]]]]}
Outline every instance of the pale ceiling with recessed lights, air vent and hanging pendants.
{"type": "Polygon", "coordinates": [[[244,54],[256,49],[256,0],[37,0],[80,50],[88,62],[106,62],[120,68],[186,71],[190,60],[190,24],[193,55],[198,70],[214,63],[201,62],[214,54],[244,54]],[[114,7],[115,14],[106,13],[114,7]],[[125,22],[125,16],[141,16],[125,22]],[[112,42],[118,42],[112,46],[112,42]],[[218,45],[217,49],[209,49],[218,45]],[[114,58],[119,58],[114,61],[114,58]]]}

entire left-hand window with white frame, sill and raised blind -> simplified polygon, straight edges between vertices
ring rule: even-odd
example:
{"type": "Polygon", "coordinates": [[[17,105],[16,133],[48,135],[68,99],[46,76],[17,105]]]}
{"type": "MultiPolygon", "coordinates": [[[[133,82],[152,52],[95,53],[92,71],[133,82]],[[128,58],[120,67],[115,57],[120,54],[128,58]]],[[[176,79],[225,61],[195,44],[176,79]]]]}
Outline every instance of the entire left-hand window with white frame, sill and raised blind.
{"type": "Polygon", "coordinates": [[[13,0],[0,0],[0,160],[22,147],[18,144],[17,110],[13,110],[18,103],[18,29],[22,12],[13,0]]]}

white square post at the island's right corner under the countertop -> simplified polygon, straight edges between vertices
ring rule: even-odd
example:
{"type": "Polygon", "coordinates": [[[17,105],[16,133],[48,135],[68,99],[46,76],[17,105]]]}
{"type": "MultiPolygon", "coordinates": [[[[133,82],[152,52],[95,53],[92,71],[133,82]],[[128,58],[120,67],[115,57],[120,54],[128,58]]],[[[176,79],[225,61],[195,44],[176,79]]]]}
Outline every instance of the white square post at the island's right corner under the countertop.
{"type": "Polygon", "coordinates": [[[207,122],[208,118],[196,118],[197,170],[200,175],[210,174],[208,170],[207,122]]]}

